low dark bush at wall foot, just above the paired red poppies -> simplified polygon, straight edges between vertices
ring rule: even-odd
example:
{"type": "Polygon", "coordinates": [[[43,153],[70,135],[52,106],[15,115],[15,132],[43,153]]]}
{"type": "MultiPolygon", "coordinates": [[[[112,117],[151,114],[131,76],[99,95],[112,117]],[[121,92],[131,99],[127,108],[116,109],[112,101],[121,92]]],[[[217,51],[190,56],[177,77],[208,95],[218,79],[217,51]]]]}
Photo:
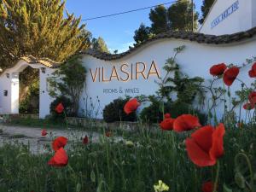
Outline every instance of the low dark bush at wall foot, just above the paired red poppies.
{"type": "MultiPolygon", "coordinates": [[[[155,97],[150,97],[149,100],[151,102],[150,106],[143,108],[140,117],[143,122],[159,123],[163,119],[163,103],[155,97]]],[[[205,125],[207,122],[207,115],[205,113],[201,113],[198,109],[192,108],[191,105],[184,102],[165,102],[164,110],[165,113],[171,113],[172,118],[190,113],[196,115],[202,125],[205,125]]]]}

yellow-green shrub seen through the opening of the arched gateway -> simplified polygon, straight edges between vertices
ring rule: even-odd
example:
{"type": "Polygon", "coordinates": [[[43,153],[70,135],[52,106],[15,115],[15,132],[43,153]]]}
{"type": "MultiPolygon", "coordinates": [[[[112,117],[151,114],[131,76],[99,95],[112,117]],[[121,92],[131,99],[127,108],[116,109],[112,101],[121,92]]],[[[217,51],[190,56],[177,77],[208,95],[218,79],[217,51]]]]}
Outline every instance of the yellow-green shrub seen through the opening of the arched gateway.
{"type": "Polygon", "coordinates": [[[39,81],[34,79],[28,87],[26,97],[20,102],[20,113],[39,113],[39,81]]]}

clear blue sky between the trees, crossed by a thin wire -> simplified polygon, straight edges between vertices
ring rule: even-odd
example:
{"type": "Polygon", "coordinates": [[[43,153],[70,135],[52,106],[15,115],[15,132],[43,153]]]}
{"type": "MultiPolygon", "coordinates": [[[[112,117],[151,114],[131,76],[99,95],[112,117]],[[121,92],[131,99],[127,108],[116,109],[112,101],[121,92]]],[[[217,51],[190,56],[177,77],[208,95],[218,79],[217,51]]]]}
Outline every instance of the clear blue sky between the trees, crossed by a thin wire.
{"type": "MultiPolygon", "coordinates": [[[[160,3],[168,3],[172,0],[67,0],[67,11],[83,19],[115,14],[131,9],[140,9],[160,3]]],[[[201,10],[202,0],[195,0],[197,11],[201,10]]],[[[118,15],[98,20],[86,21],[86,28],[92,32],[93,37],[102,37],[113,51],[119,49],[119,53],[128,49],[134,43],[134,31],[143,22],[150,26],[148,19],[150,9],[141,10],[126,15],[118,15]]]]}

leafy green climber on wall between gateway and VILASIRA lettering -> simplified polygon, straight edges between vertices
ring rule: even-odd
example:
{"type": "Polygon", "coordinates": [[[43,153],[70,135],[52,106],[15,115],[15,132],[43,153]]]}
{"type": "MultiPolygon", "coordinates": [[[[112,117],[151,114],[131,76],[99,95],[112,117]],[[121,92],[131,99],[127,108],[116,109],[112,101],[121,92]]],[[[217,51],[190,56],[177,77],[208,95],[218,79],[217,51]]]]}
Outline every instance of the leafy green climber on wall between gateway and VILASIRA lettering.
{"type": "Polygon", "coordinates": [[[81,57],[75,55],[55,71],[55,79],[49,80],[54,88],[49,91],[50,96],[65,96],[70,99],[71,114],[77,115],[79,99],[84,89],[86,69],[82,65],[81,57]],[[57,90],[57,91],[55,91],[57,90]]]}

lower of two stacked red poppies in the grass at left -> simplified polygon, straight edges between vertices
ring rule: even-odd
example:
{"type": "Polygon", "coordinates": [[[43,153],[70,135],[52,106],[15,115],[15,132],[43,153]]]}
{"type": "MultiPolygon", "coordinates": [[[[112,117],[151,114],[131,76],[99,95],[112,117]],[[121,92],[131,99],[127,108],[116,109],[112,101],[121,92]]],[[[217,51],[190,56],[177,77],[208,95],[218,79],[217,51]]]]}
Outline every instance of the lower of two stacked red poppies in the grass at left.
{"type": "Polygon", "coordinates": [[[49,166],[67,166],[68,156],[64,148],[56,151],[55,155],[48,161],[49,166]]]}

